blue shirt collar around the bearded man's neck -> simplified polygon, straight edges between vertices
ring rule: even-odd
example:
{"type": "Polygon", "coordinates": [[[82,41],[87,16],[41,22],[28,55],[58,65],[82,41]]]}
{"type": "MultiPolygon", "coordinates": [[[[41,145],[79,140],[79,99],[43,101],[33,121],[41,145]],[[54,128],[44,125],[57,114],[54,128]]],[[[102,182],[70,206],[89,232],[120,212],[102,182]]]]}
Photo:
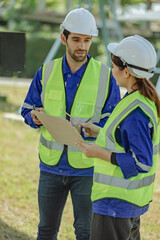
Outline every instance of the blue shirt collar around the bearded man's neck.
{"type": "MultiPolygon", "coordinates": [[[[87,55],[88,59],[91,58],[91,56],[88,54],[87,55]]],[[[88,62],[86,62],[80,69],[78,69],[74,74],[77,75],[78,77],[82,77],[84,70],[86,69],[88,62]]],[[[63,63],[62,63],[62,67],[63,67],[63,74],[73,74],[68,66],[67,60],[66,60],[66,55],[63,58],[63,63]]]]}

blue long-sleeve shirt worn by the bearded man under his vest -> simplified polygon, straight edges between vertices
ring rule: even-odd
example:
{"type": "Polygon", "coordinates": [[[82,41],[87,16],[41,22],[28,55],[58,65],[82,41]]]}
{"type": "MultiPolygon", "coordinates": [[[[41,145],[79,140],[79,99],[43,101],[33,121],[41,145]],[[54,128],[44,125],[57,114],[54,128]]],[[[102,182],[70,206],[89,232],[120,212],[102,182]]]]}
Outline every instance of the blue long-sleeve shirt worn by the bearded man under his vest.
{"type": "MultiPolygon", "coordinates": [[[[90,58],[89,55],[88,55],[88,58],[90,58]]],[[[63,75],[64,75],[64,81],[65,81],[65,90],[66,90],[66,105],[67,105],[66,107],[68,112],[70,106],[72,105],[73,98],[77,90],[77,85],[79,84],[83,76],[87,63],[85,63],[75,73],[71,72],[67,64],[66,57],[63,58],[62,64],[63,64],[63,75]]],[[[35,104],[36,107],[42,106],[41,96],[40,96],[42,92],[41,80],[42,80],[42,68],[40,67],[40,69],[36,72],[33,78],[28,94],[24,101],[25,104],[28,104],[30,106],[33,106],[35,104]]],[[[111,113],[119,100],[120,100],[119,87],[116,85],[116,81],[111,75],[109,97],[107,99],[107,102],[104,105],[102,113],[106,113],[106,112],[111,113]]],[[[26,124],[30,125],[33,128],[38,128],[38,126],[35,125],[31,117],[31,114],[30,114],[31,110],[32,109],[22,107],[21,114],[24,117],[24,121],[26,124]]],[[[102,119],[98,123],[98,125],[103,127],[107,119],[108,117],[102,119]]],[[[64,176],[92,176],[93,175],[93,168],[80,169],[80,170],[72,168],[67,161],[66,153],[63,153],[60,162],[54,167],[47,166],[40,161],[40,169],[46,172],[50,172],[58,175],[64,175],[64,176]]]]}

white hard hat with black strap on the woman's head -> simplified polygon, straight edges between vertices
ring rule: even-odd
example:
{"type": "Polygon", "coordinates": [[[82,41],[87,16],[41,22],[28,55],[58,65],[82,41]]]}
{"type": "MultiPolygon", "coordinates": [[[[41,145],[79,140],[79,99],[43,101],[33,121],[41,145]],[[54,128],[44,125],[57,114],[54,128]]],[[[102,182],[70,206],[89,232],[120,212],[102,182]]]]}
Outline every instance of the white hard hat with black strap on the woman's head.
{"type": "Polygon", "coordinates": [[[154,75],[157,55],[145,38],[139,35],[126,37],[119,43],[109,43],[107,48],[120,57],[133,76],[149,79],[154,75]]]}

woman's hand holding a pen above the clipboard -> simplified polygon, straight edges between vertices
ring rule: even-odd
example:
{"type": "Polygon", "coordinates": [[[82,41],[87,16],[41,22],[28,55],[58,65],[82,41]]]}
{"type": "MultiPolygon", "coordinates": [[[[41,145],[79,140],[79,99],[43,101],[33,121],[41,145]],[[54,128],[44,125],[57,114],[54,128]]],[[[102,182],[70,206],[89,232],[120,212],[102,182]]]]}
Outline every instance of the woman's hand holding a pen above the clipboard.
{"type": "Polygon", "coordinates": [[[99,134],[101,127],[93,124],[93,123],[83,123],[82,131],[84,132],[85,137],[94,137],[96,138],[99,134]]]}

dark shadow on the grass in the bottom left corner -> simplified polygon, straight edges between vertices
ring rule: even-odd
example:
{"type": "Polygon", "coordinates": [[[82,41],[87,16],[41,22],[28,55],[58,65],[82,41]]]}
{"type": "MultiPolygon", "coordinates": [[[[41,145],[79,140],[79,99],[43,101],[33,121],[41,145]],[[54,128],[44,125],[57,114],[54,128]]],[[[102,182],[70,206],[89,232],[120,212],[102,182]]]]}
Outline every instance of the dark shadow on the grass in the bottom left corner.
{"type": "Polygon", "coordinates": [[[20,232],[0,219],[0,239],[1,240],[34,240],[27,234],[20,232]]]}

